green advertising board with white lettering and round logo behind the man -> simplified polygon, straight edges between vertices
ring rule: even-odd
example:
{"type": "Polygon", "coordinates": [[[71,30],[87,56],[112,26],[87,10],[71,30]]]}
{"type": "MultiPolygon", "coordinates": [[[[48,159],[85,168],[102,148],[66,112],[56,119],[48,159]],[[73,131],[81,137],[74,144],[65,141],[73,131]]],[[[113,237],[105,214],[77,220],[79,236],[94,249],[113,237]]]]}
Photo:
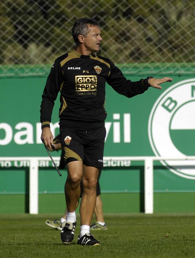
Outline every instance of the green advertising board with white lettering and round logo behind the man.
{"type": "MultiPolygon", "coordinates": [[[[125,74],[137,81],[140,76],[125,74]]],[[[161,78],[162,75],[153,75],[161,78]]],[[[169,76],[167,74],[166,76],[169,76]]],[[[195,155],[195,79],[171,75],[172,83],[163,89],[149,88],[128,99],[106,85],[105,121],[107,136],[104,157],[195,155]]],[[[0,156],[46,157],[40,140],[40,103],[46,77],[3,78],[1,84],[0,156]]],[[[59,133],[59,96],[52,114],[52,132],[59,133]]],[[[53,157],[60,153],[52,153],[53,157]]],[[[39,193],[63,193],[62,178],[41,162],[39,193]]],[[[29,164],[23,161],[0,161],[0,194],[26,194],[29,164]]],[[[142,193],[143,161],[104,161],[100,184],[102,193],[142,193]]],[[[154,193],[194,193],[195,161],[155,161],[154,193]]]]}

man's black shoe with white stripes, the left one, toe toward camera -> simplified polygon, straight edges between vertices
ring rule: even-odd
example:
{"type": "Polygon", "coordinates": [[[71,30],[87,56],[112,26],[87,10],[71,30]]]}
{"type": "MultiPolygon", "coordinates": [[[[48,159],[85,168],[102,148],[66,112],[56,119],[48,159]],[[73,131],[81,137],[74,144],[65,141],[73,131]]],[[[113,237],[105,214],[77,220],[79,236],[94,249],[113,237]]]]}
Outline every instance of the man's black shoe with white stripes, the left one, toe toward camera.
{"type": "Polygon", "coordinates": [[[64,244],[70,244],[74,239],[74,229],[76,227],[75,222],[63,222],[61,225],[62,231],[60,233],[61,240],[64,244]]]}

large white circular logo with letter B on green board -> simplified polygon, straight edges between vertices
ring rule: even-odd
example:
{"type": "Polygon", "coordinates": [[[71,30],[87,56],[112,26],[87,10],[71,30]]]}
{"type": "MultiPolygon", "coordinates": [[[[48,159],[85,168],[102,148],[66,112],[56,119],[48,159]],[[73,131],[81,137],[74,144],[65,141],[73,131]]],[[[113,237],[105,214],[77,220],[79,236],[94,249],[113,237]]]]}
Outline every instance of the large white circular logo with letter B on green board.
{"type": "MultiPolygon", "coordinates": [[[[157,157],[195,155],[195,79],[169,87],[155,102],[148,123],[151,148],[157,157]]],[[[195,179],[195,161],[161,161],[171,172],[195,179]]]]}

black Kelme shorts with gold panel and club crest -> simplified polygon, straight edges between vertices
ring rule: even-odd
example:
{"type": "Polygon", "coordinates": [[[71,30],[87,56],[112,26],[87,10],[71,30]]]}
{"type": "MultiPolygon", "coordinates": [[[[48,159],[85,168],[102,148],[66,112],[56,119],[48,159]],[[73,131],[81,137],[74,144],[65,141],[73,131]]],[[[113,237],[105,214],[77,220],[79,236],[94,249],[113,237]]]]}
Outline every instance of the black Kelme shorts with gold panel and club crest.
{"type": "Polygon", "coordinates": [[[60,126],[60,136],[65,165],[71,161],[83,161],[87,166],[103,167],[105,127],[82,131],[60,126]]]}

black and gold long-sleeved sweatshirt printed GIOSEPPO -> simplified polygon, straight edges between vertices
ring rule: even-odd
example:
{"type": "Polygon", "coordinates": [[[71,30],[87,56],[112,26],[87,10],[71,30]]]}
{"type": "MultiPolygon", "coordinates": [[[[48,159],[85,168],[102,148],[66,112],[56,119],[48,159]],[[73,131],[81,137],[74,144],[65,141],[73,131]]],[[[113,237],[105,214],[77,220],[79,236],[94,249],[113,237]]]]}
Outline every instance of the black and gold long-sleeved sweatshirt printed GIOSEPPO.
{"type": "MultiPolygon", "coordinates": [[[[119,94],[133,97],[146,91],[148,79],[132,82],[108,58],[73,50],[52,65],[42,95],[40,121],[50,127],[54,101],[60,91],[60,125],[80,129],[104,126],[106,82],[119,94]]],[[[109,96],[108,96],[109,97],[109,96]]]]}

